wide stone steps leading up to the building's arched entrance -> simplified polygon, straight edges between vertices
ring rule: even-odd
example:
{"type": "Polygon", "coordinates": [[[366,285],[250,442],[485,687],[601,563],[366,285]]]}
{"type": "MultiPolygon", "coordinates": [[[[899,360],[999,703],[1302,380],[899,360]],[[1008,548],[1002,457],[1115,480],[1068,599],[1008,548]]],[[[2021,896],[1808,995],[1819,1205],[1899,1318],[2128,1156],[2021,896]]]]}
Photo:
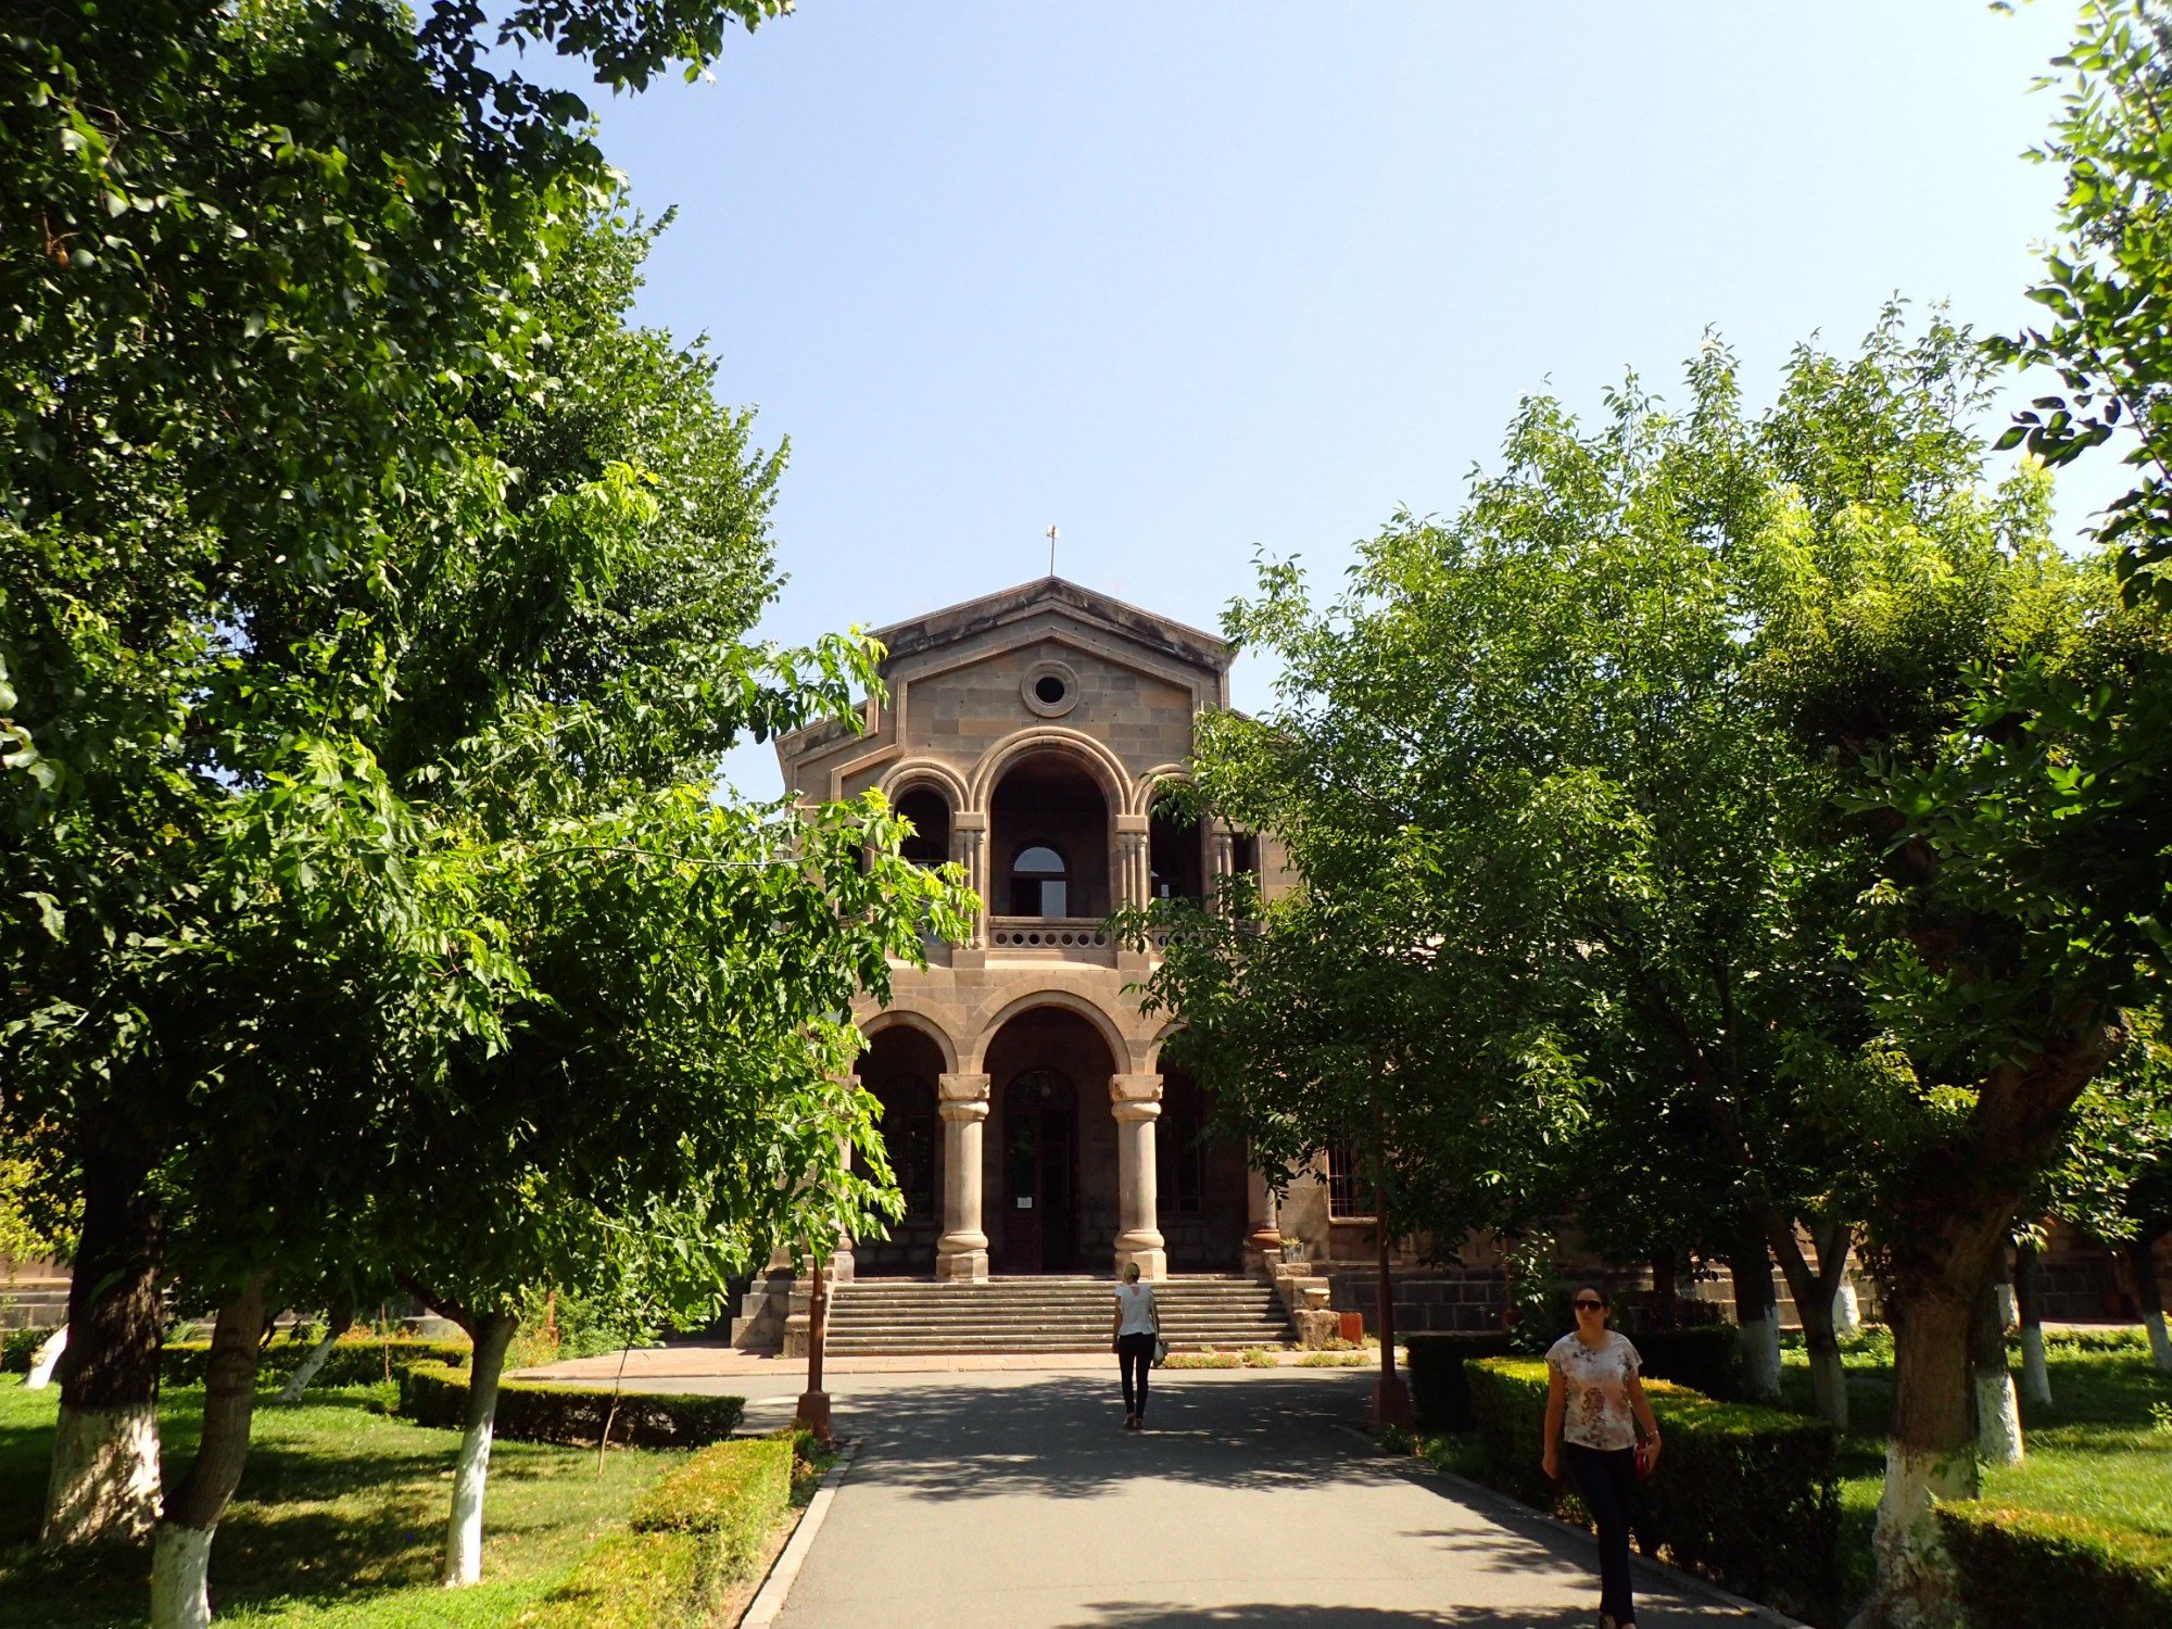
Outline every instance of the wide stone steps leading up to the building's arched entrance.
{"type": "MultiPolygon", "coordinates": [[[[1108,1351],[1114,1279],[1019,1277],[986,1284],[860,1279],[830,1290],[828,1351],[912,1353],[1108,1351]]],[[[1290,1316],[1255,1277],[1173,1277],[1153,1286],[1175,1351],[1286,1347],[1290,1316]]]]}

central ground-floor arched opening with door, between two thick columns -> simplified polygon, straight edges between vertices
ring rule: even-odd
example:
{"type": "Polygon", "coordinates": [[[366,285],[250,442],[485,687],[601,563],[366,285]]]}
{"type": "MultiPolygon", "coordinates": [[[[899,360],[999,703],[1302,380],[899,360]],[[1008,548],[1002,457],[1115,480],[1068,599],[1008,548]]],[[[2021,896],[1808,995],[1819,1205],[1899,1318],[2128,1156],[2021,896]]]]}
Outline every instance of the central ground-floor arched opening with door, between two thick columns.
{"type": "Polygon", "coordinates": [[[988,1043],[984,1142],[990,1266],[1077,1273],[1116,1247],[1114,1062],[1101,1032],[1064,1008],[1027,1008],[988,1043]],[[1099,1110],[1099,1112],[1097,1112],[1099,1110]]]}

